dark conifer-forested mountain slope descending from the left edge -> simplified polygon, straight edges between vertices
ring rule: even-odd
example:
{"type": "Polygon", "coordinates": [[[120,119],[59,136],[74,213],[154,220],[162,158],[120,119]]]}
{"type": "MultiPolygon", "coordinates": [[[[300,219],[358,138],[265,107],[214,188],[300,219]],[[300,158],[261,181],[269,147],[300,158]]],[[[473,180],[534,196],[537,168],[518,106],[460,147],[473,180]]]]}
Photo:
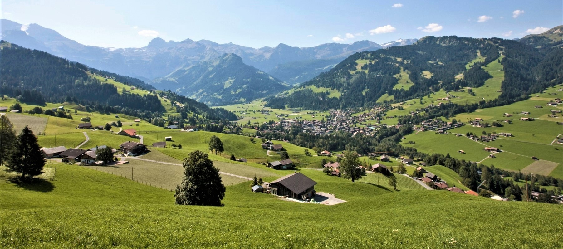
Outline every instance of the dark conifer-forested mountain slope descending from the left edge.
{"type": "MultiPolygon", "coordinates": [[[[132,86],[145,86],[143,81],[75,63],[47,52],[30,50],[0,41],[0,95],[15,97],[22,103],[45,105],[74,101],[87,109],[101,113],[124,113],[151,119],[166,112],[156,94],[135,94],[118,91],[111,83],[100,81],[106,75],[132,86]]],[[[210,119],[236,119],[225,109],[212,109],[203,103],[183,96],[170,95],[169,99],[185,104],[185,112],[205,115],[210,119]]]]}

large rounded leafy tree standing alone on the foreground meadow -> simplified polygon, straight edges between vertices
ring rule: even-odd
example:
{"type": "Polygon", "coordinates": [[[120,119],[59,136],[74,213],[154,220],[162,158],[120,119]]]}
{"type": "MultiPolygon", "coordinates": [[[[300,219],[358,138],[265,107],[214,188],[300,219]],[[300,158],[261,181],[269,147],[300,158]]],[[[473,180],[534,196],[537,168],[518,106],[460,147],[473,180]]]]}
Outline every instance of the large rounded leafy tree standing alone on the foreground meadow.
{"type": "Polygon", "coordinates": [[[200,150],[187,154],[184,159],[184,179],[176,187],[174,197],[176,204],[222,206],[225,186],[208,154],[200,150]]]}

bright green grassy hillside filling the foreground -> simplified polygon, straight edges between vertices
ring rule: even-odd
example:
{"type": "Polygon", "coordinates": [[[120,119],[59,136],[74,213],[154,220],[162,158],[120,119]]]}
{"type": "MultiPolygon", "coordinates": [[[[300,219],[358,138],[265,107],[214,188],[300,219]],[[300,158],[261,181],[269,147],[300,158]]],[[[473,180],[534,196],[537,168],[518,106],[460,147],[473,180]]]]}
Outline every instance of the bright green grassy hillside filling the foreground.
{"type": "Polygon", "coordinates": [[[324,206],[281,201],[269,194],[252,193],[243,183],[227,186],[224,207],[177,206],[166,190],[61,165],[57,166],[56,180],[41,186],[0,181],[0,246],[563,246],[563,221],[552,218],[563,211],[562,206],[498,202],[446,191],[394,193],[385,186],[352,184],[319,171],[303,174],[318,182],[319,191],[334,193],[347,202],[324,206]],[[484,205],[488,208],[482,208],[484,205]],[[436,226],[439,229],[432,229],[436,226]],[[373,228],[378,232],[366,233],[373,228]]]}

